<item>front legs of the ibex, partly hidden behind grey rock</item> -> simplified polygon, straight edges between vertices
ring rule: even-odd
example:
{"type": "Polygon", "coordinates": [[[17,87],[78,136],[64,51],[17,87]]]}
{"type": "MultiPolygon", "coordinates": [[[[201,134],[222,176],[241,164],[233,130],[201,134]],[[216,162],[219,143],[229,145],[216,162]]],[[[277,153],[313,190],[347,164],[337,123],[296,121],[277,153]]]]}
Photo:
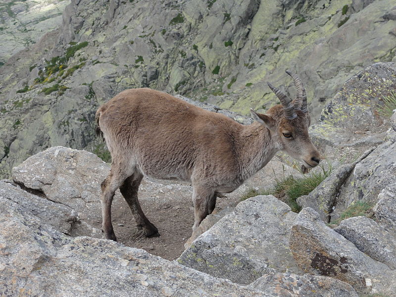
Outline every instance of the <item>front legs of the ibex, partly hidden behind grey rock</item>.
{"type": "Polygon", "coordinates": [[[213,201],[214,191],[203,186],[193,186],[194,226],[196,230],[202,220],[212,212],[216,200],[213,201]],[[214,203],[213,203],[214,202],[214,203]]]}

